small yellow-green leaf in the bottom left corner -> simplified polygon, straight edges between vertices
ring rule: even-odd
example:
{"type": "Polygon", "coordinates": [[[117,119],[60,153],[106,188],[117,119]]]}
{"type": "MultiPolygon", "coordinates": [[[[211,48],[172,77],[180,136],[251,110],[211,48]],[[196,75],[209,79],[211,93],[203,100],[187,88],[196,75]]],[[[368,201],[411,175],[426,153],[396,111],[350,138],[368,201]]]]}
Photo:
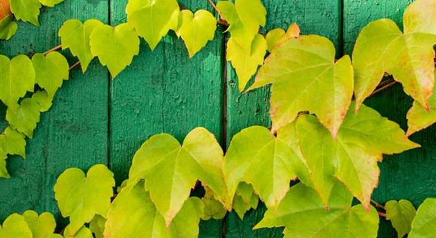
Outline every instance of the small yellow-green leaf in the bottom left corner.
{"type": "Polygon", "coordinates": [[[24,220],[24,217],[14,213],[3,222],[0,226],[1,238],[33,238],[32,232],[24,220]]]}

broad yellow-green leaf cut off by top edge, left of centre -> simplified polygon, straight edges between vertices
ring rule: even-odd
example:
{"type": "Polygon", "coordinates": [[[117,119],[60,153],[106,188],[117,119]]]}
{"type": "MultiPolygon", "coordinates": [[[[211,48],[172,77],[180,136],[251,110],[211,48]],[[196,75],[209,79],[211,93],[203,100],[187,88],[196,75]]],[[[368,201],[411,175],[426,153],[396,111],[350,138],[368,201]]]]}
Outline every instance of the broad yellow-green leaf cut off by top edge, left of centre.
{"type": "Polygon", "coordinates": [[[175,0],[129,0],[127,22],[154,50],[170,29],[176,30],[179,4],[175,0]]]}

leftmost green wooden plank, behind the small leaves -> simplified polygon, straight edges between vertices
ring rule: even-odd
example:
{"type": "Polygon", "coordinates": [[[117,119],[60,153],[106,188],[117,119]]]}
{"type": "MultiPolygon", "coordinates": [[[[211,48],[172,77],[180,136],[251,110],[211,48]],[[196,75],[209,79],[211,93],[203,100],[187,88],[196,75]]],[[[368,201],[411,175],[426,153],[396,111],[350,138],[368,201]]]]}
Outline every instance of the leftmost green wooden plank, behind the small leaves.
{"type": "MultiPolygon", "coordinates": [[[[107,1],[69,0],[43,8],[41,26],[20,22],[15,37],[0,41],[0,52],[13,57],[53,48],[60,43],[57,30],[71,18],[107,21],[107,1]]],[[[54,212],[60,218],[53,193],[57,176],[66,168],[86,170],[95,163],[107,163],[107,88],[107,70],[98,63],[92,63],[85,75],[73,71],[57,92],[53,108],[42,114],[34,139],[28,140],[27,159],[8,159],[12,179],[0,179],[0,220],[27,209],[54,212]]],[[[6,124],[4,109],[1,126],[6,124]]]]}

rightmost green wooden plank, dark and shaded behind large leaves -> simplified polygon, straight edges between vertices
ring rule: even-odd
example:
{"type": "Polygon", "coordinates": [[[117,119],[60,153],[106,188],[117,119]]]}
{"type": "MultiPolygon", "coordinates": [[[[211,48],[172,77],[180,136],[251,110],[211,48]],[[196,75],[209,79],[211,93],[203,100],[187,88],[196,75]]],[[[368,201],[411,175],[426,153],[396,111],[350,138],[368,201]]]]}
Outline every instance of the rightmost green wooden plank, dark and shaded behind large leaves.
{"type": "MultiPolygon", "coordinates": [[[[345,52],[352,52],[358,32],[370,21],[390,18],[401,26],[403,12],[412,0],[345,0],[344,2],[344,39],[345,52]]],[[[367,106],[376,109],[392,121],[407,129],[406,113],[412,106],[412,99],[400,85],[367,99],[367,106]]],[[[436,126],[417,132],[410,137],[420,143],[422,148],[403,152],[401,155],[385,156],[379,163],[381,177],[379,187],[373,198],[384,204],[390,199],[409,199],[415,206],[427,197],[436,196],[436,126]]],[[[379,237],[395,237],[389,221],[381,221],[379,237]]]]}

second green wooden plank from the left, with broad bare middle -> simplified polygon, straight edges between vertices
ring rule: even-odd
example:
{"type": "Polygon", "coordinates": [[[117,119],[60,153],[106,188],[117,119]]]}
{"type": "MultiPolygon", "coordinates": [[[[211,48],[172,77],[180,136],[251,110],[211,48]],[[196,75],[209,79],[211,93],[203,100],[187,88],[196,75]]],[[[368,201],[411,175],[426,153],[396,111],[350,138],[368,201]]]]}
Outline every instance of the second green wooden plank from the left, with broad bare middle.
{"type": "MultiPolygon", "coordinates": [[[[179,1],[192,11],[207,1],[179,1]]],[[[112,25],[126,21],[127,1],[111,1],[112,25]]],[[[154,52],[141,39],[140,54],[111,81],[111,168],[118,183],[127,178],[134,152],[152,135],[170,133],[179,141],[203,126],[222,141],[223,34],[189,59],[174,32],[154,52]]],[[[222,221],[201,222],[200,237],[221,237],[222,221]]]]}

